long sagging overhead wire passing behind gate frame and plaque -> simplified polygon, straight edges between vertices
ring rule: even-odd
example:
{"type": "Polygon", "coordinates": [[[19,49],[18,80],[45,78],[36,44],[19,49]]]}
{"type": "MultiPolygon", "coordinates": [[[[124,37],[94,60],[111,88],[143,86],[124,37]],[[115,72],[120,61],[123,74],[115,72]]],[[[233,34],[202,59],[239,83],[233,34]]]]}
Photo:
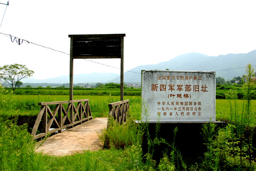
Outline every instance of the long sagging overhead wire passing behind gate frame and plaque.
{"type": "MultiPolygon", "coordinates": [[[[53,50],[53,51],[57,51],[57,52],[60,52],[60,53],[63,53],[63,54],[67,54],[67,53],[65,53],[65,52],[63,52],[63,51],[58,51],[58,50],[55,50],[55,49],[53,49],[53,48],[49,48],[49,47],[46,47],[46,46],[42,46],[42,45],[39,45],[39,44],[37,44],[37,43],[33,43],[33,42],[28,41],[28,40],[24,40],[24,39],[21,39],[21,38],[12,36],[11,34],[5,34],[5,33],[1,33],[1,32],[0,32],[0,34],[3,34],[3,35],[6,36],[6,37],[9,37],[9,36],[10,36],[9,38],[11,38],[11,41],[14,42],[14,41],[16,40],[16,42],[17,42],[19,45],[21,45],[21,44],[23,43],[23,41],[25,41],[26,43],[31,43],[31,44],[34,44],[34,45],[36,45],[36,46],[41,46],[41,47],[43,47],[43,48],[47,48],[47,49],[49,49],[49,50],[53,50]],[[12,40],[12,37],[15,37],[15,38],[12,40]],[[18,40],[17,40],[17,39],[18,39],[18,40]],[[20,43],[20,40],[21,40],[21,43],[20,43]]],[[[67,55],[70,55],[70,54],[67,54],[67,55]]],[[[97,63],[97,64],[100,64],[100,65],[103,65],[103,66],[108,66],[108,67],[111,67],[111,68],[120,69],[120,68],[117,68],[117,67],[114,67],[114,66],[109,66],[109,65],[106,65],[106,64],[103,64],[103,63],[99,63],[99,62],[96,62],[96,61],[93,61],[93,60],[88,60],[88,59],[84,59],[84,60],[90,61],[90,62],[93,62],[93,63],[97,63]]],[[[244,67],[239,67],[239,68],[246,68],[246,66],[244,66],[244,67]]],[[[216,70],[216,71],[225,71],[225,70],[239,69],[239,68],[221,69],[221,70],[216,70]]],[[[129,71],[129,70],[124,70],[124,71],[133,72],[133,73],[136,73],[136,74],[141,74],[141,73],[139,73],[139,72],[134,72],[134,71],[129,71]]]]}

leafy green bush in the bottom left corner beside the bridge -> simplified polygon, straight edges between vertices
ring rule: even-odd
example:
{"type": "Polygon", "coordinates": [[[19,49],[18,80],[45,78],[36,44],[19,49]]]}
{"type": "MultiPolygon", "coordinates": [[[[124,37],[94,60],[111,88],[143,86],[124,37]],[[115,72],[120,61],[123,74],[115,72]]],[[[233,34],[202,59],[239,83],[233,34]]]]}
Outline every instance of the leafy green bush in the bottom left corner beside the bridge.
{"type": "Polygon", "coordinates": [[[0,118],[0,170],[33,170],[35,142],[15,120],[0,118]]]}

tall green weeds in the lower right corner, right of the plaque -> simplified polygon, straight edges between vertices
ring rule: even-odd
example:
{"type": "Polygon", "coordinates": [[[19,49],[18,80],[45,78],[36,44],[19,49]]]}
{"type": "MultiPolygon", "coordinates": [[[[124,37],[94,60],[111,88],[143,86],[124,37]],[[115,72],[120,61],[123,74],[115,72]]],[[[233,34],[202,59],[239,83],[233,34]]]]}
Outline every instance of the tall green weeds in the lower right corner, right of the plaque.
{"type": "Polygon", "coordinates": [[[230,89],[226,98],[230,101],[230,123],[225,128],[215,130],[213,123],[203,125],[202,135],[207,145],[201,170],[255,170],[253,160],[252,128],[255,126],[255,111],[252,108],[251,80],[253,68],[247,66],[247,83],[244,84],[244,103],[238,111],[237,91],[230,89]]]}

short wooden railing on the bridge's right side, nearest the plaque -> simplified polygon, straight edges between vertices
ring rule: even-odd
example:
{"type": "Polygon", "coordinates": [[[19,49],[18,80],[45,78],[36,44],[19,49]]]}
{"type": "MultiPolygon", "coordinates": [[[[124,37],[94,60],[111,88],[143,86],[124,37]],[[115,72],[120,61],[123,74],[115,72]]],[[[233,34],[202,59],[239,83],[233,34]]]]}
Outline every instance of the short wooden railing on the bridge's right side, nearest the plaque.
{"type": "Polygon", "coordinates": [[[130,108],[130,100],[123,100],[115,103],[109,103],[109,115],[113,116],[119,124],[126,122],[127,111],[130,108]]]}

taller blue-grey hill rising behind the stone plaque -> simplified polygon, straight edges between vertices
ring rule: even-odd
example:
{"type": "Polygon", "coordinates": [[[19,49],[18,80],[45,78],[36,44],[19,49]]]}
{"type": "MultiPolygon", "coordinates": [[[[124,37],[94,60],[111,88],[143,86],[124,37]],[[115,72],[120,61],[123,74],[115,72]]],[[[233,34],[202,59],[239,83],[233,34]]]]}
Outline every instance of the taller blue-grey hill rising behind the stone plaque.
{"type": "MultiPolygon", "coordinates": [[[[247,54],[227,54],[218,57],[210,57],[200,53],[181,54],[169,61],[161,62],[155,65],[137,66],[124,73],[124,82],[140,83],[141,70],[157,69],[165,70],[187,70],[187,71],[216,71],[217,77],[223,77],[225,80],[232,80],[233,77],[246,74],[245,67],[248,63],[256,65],[256,50],[247,54]],[[231,69],[236,68],[236,69],[231,69]],[[220,71],[221,70],[221,71],[220,71]]],[[[113,83],[120,82],[120,76],[111,80],[113,83]]]]}

